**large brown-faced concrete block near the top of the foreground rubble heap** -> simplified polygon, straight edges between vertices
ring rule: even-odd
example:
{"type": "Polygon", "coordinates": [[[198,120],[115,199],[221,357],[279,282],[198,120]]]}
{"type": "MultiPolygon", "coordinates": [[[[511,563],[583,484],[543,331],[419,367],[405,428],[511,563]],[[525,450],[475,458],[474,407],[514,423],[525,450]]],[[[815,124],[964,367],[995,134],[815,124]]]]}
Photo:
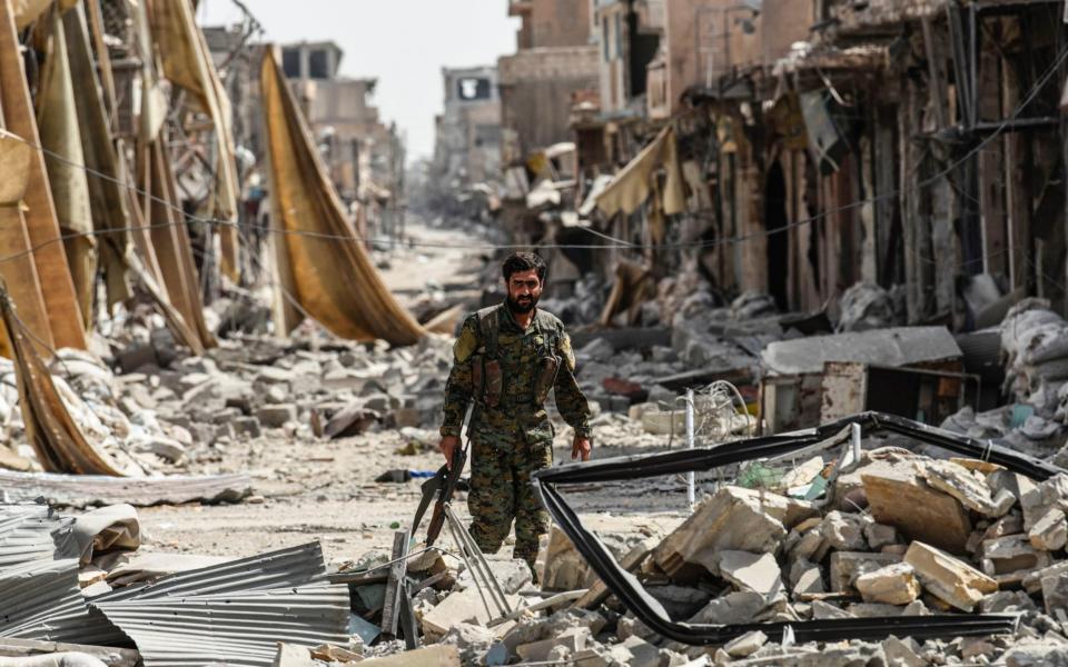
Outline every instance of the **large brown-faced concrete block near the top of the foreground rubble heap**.
{"type": "Polygon", "coordinates": [[[960,500],[931,488],[900,467],[861,475],[871,515],[896,527],[910,540],[921,540],[962,554],[971,520],[960,500]]]}

